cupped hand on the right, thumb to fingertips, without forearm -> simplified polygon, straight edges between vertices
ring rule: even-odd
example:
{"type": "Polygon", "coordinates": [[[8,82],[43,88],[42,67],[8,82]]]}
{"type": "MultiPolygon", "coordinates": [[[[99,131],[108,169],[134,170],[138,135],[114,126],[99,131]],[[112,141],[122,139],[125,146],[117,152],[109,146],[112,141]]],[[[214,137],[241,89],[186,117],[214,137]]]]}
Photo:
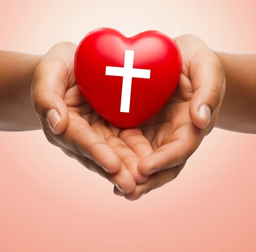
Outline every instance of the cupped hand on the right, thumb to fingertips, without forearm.
{"type": "Polygon", "coordinates": [[[173,96],[139,128],[112,127],[113,133],[140,157],[138,171],[150,175],[130,194],[124,195],[114,187],[116,195],[128,200],[137,200],[177,177],[214,127],[224,98],[225,75],[215,53],[194,35],[183,35],[175,41],[182,55],[182,70],[173,96]]]}

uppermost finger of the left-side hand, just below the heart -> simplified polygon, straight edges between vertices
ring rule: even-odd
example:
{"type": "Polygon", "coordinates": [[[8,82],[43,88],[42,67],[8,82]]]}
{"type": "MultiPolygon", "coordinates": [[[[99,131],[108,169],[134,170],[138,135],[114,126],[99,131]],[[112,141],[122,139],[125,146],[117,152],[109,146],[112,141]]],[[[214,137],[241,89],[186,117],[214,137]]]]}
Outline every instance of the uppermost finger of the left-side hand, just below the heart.
{"type": "MultiPolygon", "coordinates": [[[[137,165],[140,158],[123,142],[119,137],[106,127],[104,120],[99,120],[92,125],[93,129],[99,136],[106,140],[108,145],[119,156],[122,163],[131,172],[137,184],[144,183],[148,177],[138,172],[137,165]]],[[[114,131],[115,132],[115,131],[114,131]]]]}

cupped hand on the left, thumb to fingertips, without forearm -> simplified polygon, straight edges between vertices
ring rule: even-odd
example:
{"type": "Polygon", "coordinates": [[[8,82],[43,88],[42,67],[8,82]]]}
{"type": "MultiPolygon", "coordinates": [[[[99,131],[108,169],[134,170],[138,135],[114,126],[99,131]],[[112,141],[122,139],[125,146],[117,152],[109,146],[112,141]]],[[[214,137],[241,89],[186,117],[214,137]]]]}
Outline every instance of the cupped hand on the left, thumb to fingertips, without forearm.
{"type": "Polygon", "coordinates": [[[32,103],[50,143],[129,194],[148,176],[137,171],[139,157],[82,96],[74,74],[76,49],[58,43],[44,56],[35,70],[32,103]]]}

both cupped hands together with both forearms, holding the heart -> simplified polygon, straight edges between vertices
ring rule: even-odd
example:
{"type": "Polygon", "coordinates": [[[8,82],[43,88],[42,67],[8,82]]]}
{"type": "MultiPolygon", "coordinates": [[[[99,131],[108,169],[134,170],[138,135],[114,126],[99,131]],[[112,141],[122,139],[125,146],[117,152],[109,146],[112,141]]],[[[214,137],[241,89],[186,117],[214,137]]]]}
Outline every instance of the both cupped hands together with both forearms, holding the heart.
{"type": "Polygon", "coordinates": [[[256,132],[256,54],[213,52],[194,35],[175,41],[183,60],[177,90],[157,115],[128,130],[84,100],[73,43],[47,55],[0,51],[0,130],[42,128],[49,142],[117,185],[115,194],[137,200],[175,179],[213,127],[256,132]]]}

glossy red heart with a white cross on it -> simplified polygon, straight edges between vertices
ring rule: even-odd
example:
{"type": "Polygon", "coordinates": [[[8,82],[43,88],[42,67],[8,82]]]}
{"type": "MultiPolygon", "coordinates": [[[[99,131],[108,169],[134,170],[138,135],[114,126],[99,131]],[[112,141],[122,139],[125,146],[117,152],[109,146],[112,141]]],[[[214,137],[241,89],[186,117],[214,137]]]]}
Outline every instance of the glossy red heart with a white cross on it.
{"type": "Polygon", "coordinates": [[[81,93],[100,116],[121,128],[137,127],[157,113],[174,93],[180,71],[177,44],[157,31],[127,38],[114,29],[96,29],[75,55],[81,93]]]}

